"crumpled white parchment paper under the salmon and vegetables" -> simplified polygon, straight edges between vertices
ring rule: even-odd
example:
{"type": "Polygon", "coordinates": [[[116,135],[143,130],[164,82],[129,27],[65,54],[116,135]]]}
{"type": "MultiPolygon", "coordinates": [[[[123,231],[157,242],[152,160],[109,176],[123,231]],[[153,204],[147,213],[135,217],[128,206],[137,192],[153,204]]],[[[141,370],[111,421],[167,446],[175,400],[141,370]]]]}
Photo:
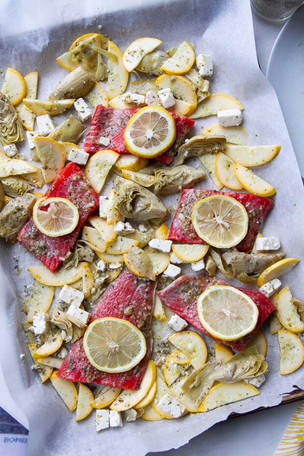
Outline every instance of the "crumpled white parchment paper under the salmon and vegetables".
{"type": "MultiPolygon", "coordinates": [[[[62,10],[66,11],[64,4],[62,10]]],[[[214,60],[211,93],[226,93],[244,105],[243,126],[249,131],[249,144],[282,146],[272,163],[256,169],[259,176],[270,181],[277,189],[276,205],[262,232],[264,235],[278,235],[286,256],[301,258],[304,248],[299,227],[304,226],[301,206],[303,185],[278,100],[258,69],[249,1],[137,1],[132,2],[131,9],[126,2],[115,1],[110,6],[102,5],[102,11],[102,15],[86,19],[79,18],[78,11],[77,20],[73,22],[69,22],[69,17],[65,16],[66,23],[60,27],[45,27],[2,41],[2,70],[10,66],[22,74],[38,71],[38,96],[43,99],[47,97],[50,87],[67,73],[57,65],[55,57],[66,51],[77,36],[98,32],[99,24],[103,27],[102,33],[108,34],[122,50],[138,37],[154,36],[162,39],[162,49],[175,46],[185,39],[195,44],[196,53],[211,54],[214,60]],[[125,30],[124,34],[122,30],[125,30]]],[[[9,10],[6,14],[9,14],[9,10]]],[[[71,21],[73,19],[72,10],[71,21]]],[[[56,123],[60,122],[59,118],[55,120],[56,123]]],[[[215,123],[214,116],[199,119],[193,134],[215,123]]],[[[22,148],[20,151],[23,152],[22,148]]],[[[214,188],[210,179],[203,181],[201,186],[214,188]]],[[[32,360],[27,357],[26,338],[21,328],[20,295],[25,284],[32,282],[26,267],[39,264],[39,261],[32,255],[26,255],[19,244],[12,247],[1,242],[1,253],[3,305],[0,308],[0,359],[12,397],[29,420],[27,455],[81,456],[104,453],[114,456],[122,451],[125,455],[133,455],[136,448],[136,453],[141,456],[149,451],[178,448],[216,422],[225,420],[231,412],[244,413],[262,405],[277,405],[283,393],[294,389],[293,385],[304,388],[303,369],[288,376],[279,375],[277,336],[269,334],[266,324],[263,332],[268,347],[266,361],[269,373],[260,388],[260,396],[204,414],[188,414],[178,420],[147,422],[140,419],[127,423],[122,429],[110,429],[97,434],[94,412],[76,423],[75,413],[65,408],[51,383],[42,385],[40,378],[30,370],[32,360]],[[16,261],[12,261],[13,255],[23,270],[19,276],[14,273],[16,261]],[[26,354],[25,361],[20,359],[21,353],[26,354]]],[[[283,285],[288,284],[293,296],[300,300],[304,299],[301,283],[303,272],[300,263],[282,279],[283,285]]],[[[206,337],[204,339],[208,342],[206,337]]]]}

